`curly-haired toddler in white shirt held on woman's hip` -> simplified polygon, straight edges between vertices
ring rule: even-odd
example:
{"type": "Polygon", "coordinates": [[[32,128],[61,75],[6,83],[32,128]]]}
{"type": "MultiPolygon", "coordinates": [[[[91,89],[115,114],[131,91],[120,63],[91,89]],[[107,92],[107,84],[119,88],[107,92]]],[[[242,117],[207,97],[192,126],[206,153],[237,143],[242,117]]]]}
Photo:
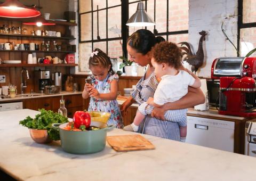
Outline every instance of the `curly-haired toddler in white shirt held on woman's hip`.
{"type": "MultiPolygon", "coordinates": [[[[146,103],[142,103],[131,125],[124,130],[138,131],[140,122],[146,114],[150,114],[153,106],[160,107],[165,103],[174,102],[188,93],[188,86],[199,88],[201,81],[191,71],[184,71],[181,64],[181,50],[171,42],[156,44],[152,50],[151,64],[155,68],[157,78],[161,78],[154,98],[150,97],[146,103]]],[[[166,111],[165,119],[178,122],[181,141],[185,141],[187,135],[187,109],[166,111]]]]}

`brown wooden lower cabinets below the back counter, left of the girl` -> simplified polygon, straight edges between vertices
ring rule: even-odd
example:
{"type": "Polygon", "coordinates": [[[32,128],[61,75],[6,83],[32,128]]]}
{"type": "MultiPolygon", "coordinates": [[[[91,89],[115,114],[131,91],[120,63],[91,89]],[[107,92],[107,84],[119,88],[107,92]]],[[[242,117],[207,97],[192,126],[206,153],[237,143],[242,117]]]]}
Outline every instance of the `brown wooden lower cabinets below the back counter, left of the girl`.
{"type": "MultiPolygon", "coordinates": [[[[68,110],[68,118],[73,118],[76,111],[83,111],[88,109],[90,99],[84,100],[81,94],[63,96],[65,100],[65,107],[68,110]]],[[[60,108],[61,96],[44,97],[44,98],[30,98],[23,101],[24,109],[36,110],[45,109],[58,112],[60,108]]]]}

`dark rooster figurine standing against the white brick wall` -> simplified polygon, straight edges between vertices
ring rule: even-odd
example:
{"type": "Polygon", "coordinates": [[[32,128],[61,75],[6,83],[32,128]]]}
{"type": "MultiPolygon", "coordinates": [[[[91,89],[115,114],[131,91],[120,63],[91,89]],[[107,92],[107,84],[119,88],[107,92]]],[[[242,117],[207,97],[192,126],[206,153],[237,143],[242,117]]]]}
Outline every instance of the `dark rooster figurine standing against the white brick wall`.
{"type": "Polygon", "coordinates": [[[201,35],[201,38],[199,40],[198,44],[198,50],[195,55],[191,52],[191,48],[189,43],[187,42],[180,42],[178,44],[181,44],[181,50],[185,51],[182,52],[182,55],[186,55],[183,59],[183,61],[188,62],[188,64],[192,65],[191,71],[196,73],[198,68],[200,68],[204,63],[204,51],[203,51],[203,41],[205,40],[205,36],[207,35],[205,31],[199,32],[201,35]],[[187,47],[183,46],[186,45],[187,47]]]}

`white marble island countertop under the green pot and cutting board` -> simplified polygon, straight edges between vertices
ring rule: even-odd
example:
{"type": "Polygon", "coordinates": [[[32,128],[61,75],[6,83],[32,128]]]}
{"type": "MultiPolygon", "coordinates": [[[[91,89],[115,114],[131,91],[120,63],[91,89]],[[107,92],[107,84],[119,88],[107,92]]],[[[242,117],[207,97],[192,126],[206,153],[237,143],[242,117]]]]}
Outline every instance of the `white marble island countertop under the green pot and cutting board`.
{"type": "MultiPolygon", "coordinates": [[[[256,158],[143,135],[156,149],[63,152],[59,142],[37,144],[19,120],[37,111],[0,112],[0,169],[21,180],[255,180],[256,158]]],[[[134,134],[114,129],[107,135],[134,134]]]]}

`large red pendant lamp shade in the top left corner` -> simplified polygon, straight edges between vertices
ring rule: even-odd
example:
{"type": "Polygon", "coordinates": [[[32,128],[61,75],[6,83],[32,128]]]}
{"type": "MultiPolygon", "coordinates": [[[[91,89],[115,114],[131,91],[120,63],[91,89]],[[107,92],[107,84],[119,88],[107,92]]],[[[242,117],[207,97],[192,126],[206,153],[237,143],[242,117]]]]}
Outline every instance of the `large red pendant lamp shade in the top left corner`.
{"type": "Polygon", "coordinates": [[[0,17],[5,18],[33,18],[41,13],[35,8],[23,5],[18,0],[6,0],[0,4],[0,17]]]}

